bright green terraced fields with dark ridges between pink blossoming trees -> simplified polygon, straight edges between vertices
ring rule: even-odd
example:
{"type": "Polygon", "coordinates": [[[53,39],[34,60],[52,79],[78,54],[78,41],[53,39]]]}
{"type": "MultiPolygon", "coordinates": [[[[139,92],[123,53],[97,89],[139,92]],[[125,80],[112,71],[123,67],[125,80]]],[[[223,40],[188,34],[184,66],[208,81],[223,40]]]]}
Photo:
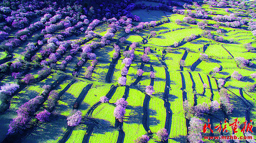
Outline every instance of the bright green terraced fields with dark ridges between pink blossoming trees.
{"type": "MultiPolygon", "coordinates": [[[[71,32],[67,27],[60,26],[48,33],[47,37],[47,34],[41,32],[49,27],[45,22],[40,28],[25,34],[28,37],[21,40],[20,45],[4,51],[3,45],[8,43],[8,39],[17,37],[22,28],[10,31],[7,41],[2,42],[0,51],[0,86],[17,83],[19,88],[8,99],[3,100],[1,97],[0,142],[132,143],[142,135],[147,135],[149,143],[192,143],[187,136],[191,117],[186,116],[184,104],[197,107],[206,103],[210,108],[212,101],[222,103],[222,89],[227,89],[230,95],[229,103],[233,106],[231,114],[218,107],[214,112],[192,116],[201,119],[203,124],[207,124],[207,119],[210,119],[210,124],[214,127],[220,121],[228,121],[229,132],[219,133],[214,129],[214,136],[245,136],[241,132],[242,126],[239,125],[238,133],[232,133],[229,125],[236,118],[240,123],[251,120],[254,132],[251,136],[255,138],[256,45],[255,35],[248,30],[248,22],[255,22],[255,19],[248,13],[237,15],[235,18],[248,18],[251,21],[245,20],[240,27],[229,27],[223,24],[225,21],[214,21],[212,18],[216,15],[238,13],[243,9],[238,5],[232,8],[210,7],[209,4],[198,1],[197,8],[207,12],[208,18],[193,18],[196,22],[191,23],[184,20],[188,9],[182,14],[149,9],[150,4],[158,6],[158,3],[167,3],[164,1],[139,1],[135,4],[139,3],[145,3],[148,8],[134,9],[132,13],[140,16],[141,22],[154,21],[155,24],[132,21],[131,30],[128,28],[130,31],[126,32],[129,23],[121,22],[120,18],[101,19],[97,23],[88,16],[87,20],[90,22],[87,24],[82,22],[79,25],[79,20],[74,20],[70,23],[71,32]],[[198,27],[197,23],[204,19],[207,21],[206,27],[198,27]],[[214,24],[218,28],[213,28],[214,24]],[[138,28],[138,25],[143,26],[138,28]],[[109,33],[113,34],[112,37],[108,37],[109,33]],[[218,37],[223,39],[218,40],[218,37]],[[36,48],[28,51],[29,43],[33,43],[36,48]],[[49,49],[50,44],[54,48],[49,49]],[[251,50],[246,48],[248,44],[251,50]],[[116,46],[120,48],[118,52],[116,46]],[[65,50],[59,52],[62,47],[65,50]],[[86,49],[88,47],[90,50],[86,49]],[[85,52],[86,50],[88,51],[85,52]],[[133,52],[134,57],[131,58],[130,55],[131,64],[126,66],[128,52],[133,52]],[[52,58],[54,56],[55,59],[52,58]],[[147,56],[148,61],[143,60],[143,56],[147,56]],[[69,57],[71,58],[67,60],[69,57]],[[237,57],[244,57],[250,65],[241,66],[237,57]],[[18,69],[15,69],[15,63],[20,63],[18,69]],[[123,74],[123,68],[127,68],[127,74],[123,74]],[[138,74],[139,69],[144,71],[142,75],[138,74]],[[242,75],[241,79],[234,77],[235,71],[242,75]],[[155,77],[151,77],[152,72],[155,77]],[[14,73],[19,74],[15,77],[14,73]],[[27,80],[24,78],[27,74],[34,77],[27,80]],[[125,77],[124,85],[120,83],[120,77],[125,77]],[[222,86],[219,79],[225,80],[222,86]],[[49,85],[48,91],[44,85],[49,85]],[[154,88],[153,94],[146,91],[149,85],[154,88]],[[51,108],[52,91],[57,93],[58,98],[51,108]],[[43,97],[43,101],[30,112],[25,127],[17,127],[14,134],[9,134],[10,122],[19,116],[16,111],[39,95],[43,97]],[[101,102],[103,96],[109,101],[101,102]],[[128,102],[122,122],[114,116],[117,107],[115,103],[120,98],[128,102]],[[51,115],[49,121],[41,122],[36,115],[45,109],[51,115]],[[81,111],[81,122],[76,126],[69,126],[67,118],[77,110],[81,111]],[[168,139],[161,141],[157,132],[162,128],[168,132],[168,139]]],[[[177,5],[170,8],[175,9],[173,6],[177,5]]],[[[193,6],[190,12],[196,13],[193,6]]],[[[177,6],[177,9],[184,8],[177,6]]],[[[249,9],[247,6],[244,10],[249,9]]],[[[52,15],[57,13],[53,12],[52,15]]],[[[37,15],[30,24],[42,18],[44,15],[37,15]]],[[[59,24],[69,18],[61,16],[51,24],[59,24]]],[[[84,19],[81,18],[80,22],[84,19]]],[[[213,136],[209,130],[201,132],[202,136],[213,136]]],[[[202,140],[224,142],[203,137],[202,140]]]]}

